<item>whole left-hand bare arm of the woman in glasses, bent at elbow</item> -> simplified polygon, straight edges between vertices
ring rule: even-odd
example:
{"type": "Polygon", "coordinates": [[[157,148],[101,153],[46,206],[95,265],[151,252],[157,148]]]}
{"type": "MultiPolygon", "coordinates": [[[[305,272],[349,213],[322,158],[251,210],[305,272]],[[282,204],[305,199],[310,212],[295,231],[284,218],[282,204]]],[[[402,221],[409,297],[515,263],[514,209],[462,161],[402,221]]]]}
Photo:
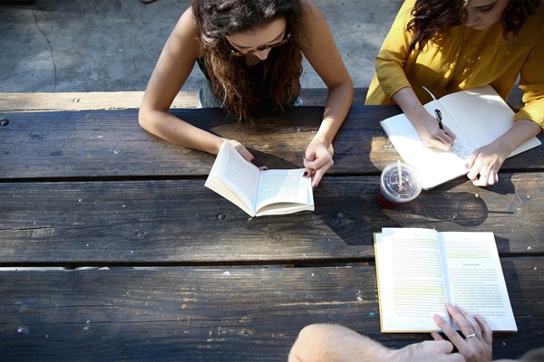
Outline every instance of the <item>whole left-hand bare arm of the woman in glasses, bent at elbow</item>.
{"type": "MultiPolygon", "coordinates": [[[[145,90],[140,125],[155,136],[186,148],[217,154],[225,138],[199,129],[169,113],[170,105],[200,56],[199,36],[191,9],[185,11],[170,34],[145,90]]],[[[239,142],[230,140],[249,161],[253,158],[239,142]]]]}

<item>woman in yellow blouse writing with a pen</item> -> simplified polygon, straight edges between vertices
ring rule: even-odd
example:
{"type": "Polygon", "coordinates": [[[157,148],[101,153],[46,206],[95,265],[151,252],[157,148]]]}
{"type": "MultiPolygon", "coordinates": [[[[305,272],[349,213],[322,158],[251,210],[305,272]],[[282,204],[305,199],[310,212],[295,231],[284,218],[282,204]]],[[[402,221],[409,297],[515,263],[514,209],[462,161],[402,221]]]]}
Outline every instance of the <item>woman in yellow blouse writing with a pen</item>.
{"type": "MultiPolygon", "coordinates": [[[[467,161],[476,186],[493,185],[510,152],[544,128],[544,5],[539,0],[406,0],[376,58],[366,104],[401,107],[427,147],[455,135],[423,109],[437,97],[490,84],[507,99],[518,76],[525,106],[514,126],[467,161]]],[[[492,125],[490,125],[492,127],[492,125]]]]}

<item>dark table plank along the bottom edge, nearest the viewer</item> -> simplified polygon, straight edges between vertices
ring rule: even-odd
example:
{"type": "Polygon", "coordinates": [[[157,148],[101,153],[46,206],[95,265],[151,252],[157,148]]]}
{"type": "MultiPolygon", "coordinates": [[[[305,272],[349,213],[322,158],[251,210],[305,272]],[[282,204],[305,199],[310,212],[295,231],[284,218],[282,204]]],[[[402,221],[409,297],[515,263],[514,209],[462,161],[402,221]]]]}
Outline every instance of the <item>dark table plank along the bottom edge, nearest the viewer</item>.
{"type": "MultiPolygon", "coordinates": [[[[519,332],[495,358],[544,338],[544,261],[503,260],[519,332]]],[[[401,348],[428,334],[381,334],[373,265],[0,272],[5,360],[285,361],[300,329],[338,323],[401,348]]]]}

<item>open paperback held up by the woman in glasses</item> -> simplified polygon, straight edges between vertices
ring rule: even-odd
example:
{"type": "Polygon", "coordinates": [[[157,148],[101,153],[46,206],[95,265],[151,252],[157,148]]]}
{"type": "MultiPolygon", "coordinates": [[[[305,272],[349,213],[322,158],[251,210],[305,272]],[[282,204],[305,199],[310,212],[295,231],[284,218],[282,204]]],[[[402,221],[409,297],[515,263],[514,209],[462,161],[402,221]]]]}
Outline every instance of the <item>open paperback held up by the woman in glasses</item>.
{"type": "Polygon", "coordinates": [[[261,171],[223,142],[205,186],[250,216],[314,211],[312,180],[303,174],[304,168],[261,171]]]}

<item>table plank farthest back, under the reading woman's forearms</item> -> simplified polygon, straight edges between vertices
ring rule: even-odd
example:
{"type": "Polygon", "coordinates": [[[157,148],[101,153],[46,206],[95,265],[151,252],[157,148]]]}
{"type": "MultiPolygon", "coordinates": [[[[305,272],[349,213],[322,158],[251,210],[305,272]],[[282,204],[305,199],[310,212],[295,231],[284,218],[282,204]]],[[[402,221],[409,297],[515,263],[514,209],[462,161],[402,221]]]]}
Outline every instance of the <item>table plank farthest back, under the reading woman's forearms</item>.
{"type": "MultiPolygon", "coordinates": [[[[353,106],[334,142],[330,175],[376,175],[398,158],[379,126],[395,106],[353,106]]],[[[257,163],[301,167],[323,109],[300,107],[268,115],[254,127],[226,122],[221,110],[172,110],[182,119],[244,142],[257,163]]],[[[137,110],[29,112],[4,115],[0,126],[0,178],[207,176],[215,157],[151,136],[138,125],[137,110]]],[[[541,136],[544,139],[544,136],[541,136]]],[[[544,148],[505,162],[504,171],[544,168],[544,148]]]]}

